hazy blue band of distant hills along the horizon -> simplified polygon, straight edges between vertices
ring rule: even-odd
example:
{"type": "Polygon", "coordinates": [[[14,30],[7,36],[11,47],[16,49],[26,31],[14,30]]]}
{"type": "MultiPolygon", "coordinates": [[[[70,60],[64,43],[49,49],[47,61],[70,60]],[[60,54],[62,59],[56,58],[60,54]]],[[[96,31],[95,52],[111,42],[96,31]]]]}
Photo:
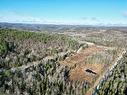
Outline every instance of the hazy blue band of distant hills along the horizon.
{"type": "Polygon", "coordinates": [[[100,30],[100,29],[120,29],[126,30],[127,27],[116,27],[116,26],[91,26],[91,25],[53,25],[53,24],[23,24],[23,23],[0,23],[0,28],[11,28],[18,30],[29,30],[29,31],[48,31],[48,32],[80,32],[84,30],[100,30]]]}

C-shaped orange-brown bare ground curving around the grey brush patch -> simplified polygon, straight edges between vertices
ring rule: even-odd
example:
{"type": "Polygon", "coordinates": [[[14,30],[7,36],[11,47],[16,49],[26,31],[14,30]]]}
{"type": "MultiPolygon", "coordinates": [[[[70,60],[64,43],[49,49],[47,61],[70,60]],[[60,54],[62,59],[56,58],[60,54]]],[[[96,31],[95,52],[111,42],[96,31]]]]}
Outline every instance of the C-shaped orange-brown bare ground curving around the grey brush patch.
{"type": "Polygon", "coordinates": [[[61,64],[74,67],[70,71],[70,80],[87,81],[89,83],[92,83],[93,80],[95,80],[96,77],[101,73],[104,65],[98,63],[85,64],[85,61],[90,55],[101,51],[104,51],[104,49],[92,46],[61,62],[61,64]],[[93,72],[96,74],[93,74],[93,72]]]}

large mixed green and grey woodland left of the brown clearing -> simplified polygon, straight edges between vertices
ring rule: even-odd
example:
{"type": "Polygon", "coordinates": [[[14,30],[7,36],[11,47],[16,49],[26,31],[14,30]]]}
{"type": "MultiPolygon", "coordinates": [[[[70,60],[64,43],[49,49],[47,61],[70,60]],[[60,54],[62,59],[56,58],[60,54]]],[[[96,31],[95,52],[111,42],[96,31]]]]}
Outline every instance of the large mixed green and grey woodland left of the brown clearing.
{"type": "Polygon", "coordinates": [[[1,29],[0,94],[84,94],[89,84],[70,81],[71,68],[58,63],[79,47],[64,35],[1,29]]]}

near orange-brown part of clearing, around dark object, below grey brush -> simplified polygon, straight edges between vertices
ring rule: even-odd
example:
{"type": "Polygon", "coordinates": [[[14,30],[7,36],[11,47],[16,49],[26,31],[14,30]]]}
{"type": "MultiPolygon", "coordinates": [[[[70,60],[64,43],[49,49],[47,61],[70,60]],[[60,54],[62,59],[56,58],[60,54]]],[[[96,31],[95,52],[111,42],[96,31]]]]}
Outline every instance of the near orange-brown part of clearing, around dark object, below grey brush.
{"type": "Polygon", "coordinates": [[[82,66],[78,65],[76,68],[71,70],[70,80],[87,81],[92,84],[98,75],[102,72],[103,67],[103,64],[84,64],[82,66]]]}

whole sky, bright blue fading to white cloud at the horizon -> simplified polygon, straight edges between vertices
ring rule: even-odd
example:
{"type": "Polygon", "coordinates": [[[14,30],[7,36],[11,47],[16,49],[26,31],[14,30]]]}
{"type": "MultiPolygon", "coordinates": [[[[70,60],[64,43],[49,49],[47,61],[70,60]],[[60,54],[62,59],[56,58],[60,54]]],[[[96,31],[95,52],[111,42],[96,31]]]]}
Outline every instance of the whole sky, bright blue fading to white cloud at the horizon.
{"type": "Polygon", "coordinates": [[[127,25],[127,0],[0,0],[0,22],[127,25]]]}

